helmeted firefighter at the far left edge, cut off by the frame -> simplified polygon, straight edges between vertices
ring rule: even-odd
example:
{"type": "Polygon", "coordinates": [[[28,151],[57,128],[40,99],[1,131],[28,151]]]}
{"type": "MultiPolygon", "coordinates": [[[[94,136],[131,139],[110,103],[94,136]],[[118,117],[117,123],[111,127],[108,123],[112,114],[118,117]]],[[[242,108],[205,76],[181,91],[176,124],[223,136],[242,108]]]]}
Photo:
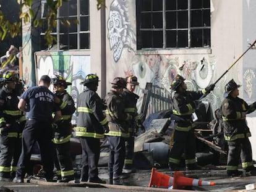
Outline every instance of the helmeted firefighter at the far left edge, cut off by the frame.
{"type": "Polygon", "coordinates": [[[17,73],[6,71],[0,79],[0,180],[11,181],[21,152],[23,112],[19,110],[19,98],[14,93],[17,73]]]}

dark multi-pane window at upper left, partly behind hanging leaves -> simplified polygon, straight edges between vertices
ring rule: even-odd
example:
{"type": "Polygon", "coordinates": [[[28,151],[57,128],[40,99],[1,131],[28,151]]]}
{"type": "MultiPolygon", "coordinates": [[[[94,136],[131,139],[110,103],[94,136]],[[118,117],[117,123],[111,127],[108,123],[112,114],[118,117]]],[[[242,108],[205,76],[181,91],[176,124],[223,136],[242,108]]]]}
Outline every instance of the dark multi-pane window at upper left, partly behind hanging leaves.
{"type": "MultiPolygon", "coordinates": [[[[57,13],[58,20],[56,29],[51,32],[51,35],[55,36],[57,40],[57,50],[90,49],[89,11],[89,0],[71,0],[68,2],[62,2],[62,7],[58,9],[57,13]],[[74,14],[73,12],[73,14],[70,15],[70,9],[72,9],[72,6],[76,13],[74,14]],[[62,25],[61,20],[69,20],[70,27],[62,25]],[[75,23],[75,20],[77,20],[79,24],[75,23]]],[[[43,27],[40,29],[41,49],[49,49],[46,45],[46,40],[44,39],[45,30],[47,29],[46,14],[46,0],[41,0],[41,20],[43,21],[43,27]]]]}

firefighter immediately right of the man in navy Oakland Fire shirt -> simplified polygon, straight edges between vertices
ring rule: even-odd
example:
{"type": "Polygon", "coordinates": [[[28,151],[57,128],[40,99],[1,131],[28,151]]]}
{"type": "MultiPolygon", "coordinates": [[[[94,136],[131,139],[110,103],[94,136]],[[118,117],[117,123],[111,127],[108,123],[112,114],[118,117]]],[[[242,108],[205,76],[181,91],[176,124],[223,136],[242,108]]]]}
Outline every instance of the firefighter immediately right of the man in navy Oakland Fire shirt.
{"type": "Polygon", "coordinates": [[[65,78],[61,75],[55,75],[54,78],[51,78],[51,84],[53,84],[55,96],[62,101],[59,106],[62,117],[53,124],[53,143],[55,144],[57,153],[54,159],[57,182],[69,182],[75,178],[70,156],[71,119],[72,114],[75,112],[75,103],[66,91],[67,86],[72,85],[72,83],[66,82],[65,78]]]}

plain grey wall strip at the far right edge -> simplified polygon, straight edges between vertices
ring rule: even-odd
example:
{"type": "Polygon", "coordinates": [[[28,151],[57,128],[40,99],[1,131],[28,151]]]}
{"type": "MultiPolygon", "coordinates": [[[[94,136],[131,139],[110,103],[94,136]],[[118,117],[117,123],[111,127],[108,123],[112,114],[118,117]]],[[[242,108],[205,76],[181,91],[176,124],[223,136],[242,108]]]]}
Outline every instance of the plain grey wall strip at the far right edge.
{"type": "MultiPolygon", "coordinates": [[[[244,50],[248,48],[249,43],[253,43],[256,40],[256,1],[247,0],[243,2],[242,12],[242,39],[244,50]]],[[[243,75],[242,75],[242,91],[243,98],[249,104],[256,101],[256,49],[250,50],[243,59],[243,75]]],[[[252,137],[250,141],[252,143],[252,156],[256,159],[256,112],[247,115],[247,123],[249,125],[252,137]]]]}

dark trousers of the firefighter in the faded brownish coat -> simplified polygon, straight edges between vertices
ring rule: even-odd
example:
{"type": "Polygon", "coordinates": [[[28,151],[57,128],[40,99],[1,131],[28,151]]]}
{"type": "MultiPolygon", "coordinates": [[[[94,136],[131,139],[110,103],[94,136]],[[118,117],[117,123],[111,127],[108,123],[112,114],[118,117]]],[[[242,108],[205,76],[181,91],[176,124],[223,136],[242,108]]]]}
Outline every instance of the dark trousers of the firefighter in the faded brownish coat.
{"type": "Polygon", "coordinates": [[[118,177],[122,174],[124,156],[126,154],[125,138],[121,136],[108,136],[109,142],[109,178],[118,177]]]}

